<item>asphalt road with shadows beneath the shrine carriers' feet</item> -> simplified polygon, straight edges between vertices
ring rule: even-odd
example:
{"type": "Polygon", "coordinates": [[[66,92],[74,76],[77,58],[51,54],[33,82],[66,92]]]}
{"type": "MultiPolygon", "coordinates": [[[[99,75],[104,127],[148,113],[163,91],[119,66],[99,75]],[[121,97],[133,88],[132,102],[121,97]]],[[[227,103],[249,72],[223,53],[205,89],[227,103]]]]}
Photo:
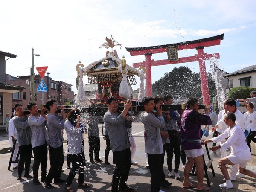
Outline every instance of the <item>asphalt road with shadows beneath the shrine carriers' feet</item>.
{"type": "MultiPolygon", "coordinates": [[[[101,125],[99,126],[100,133],[101,132],[101,125]]],[[[150,172],[149,169],[146,169],[145,165],[145,145],[144,145],[144,136],[143,136],[144,127],[142,123],[133,123],[133,135],[134,139],[137,145],[137,151],[136,151],[136,158],[135,161],[137,161],[138,165],[132,165],[130,169],[130,175],[128,177],[128,186],[131,186],[132,188],[136,189],[136,192],[150,192],[150,172]]],[[[75,191],[78,192],[110,192],[111,191],[111,180],[112,180],[112,173],[115,169],[115,165],[112,163],[112,152],[110,151],[109,156],[109,162],[110,165],[105,165],[104,163],[96,163],[95,165],[91,165],[88,155],[88,139],[87,134],[84,134],[85,136],[85,154],[86,154],[86,172],[85,172],[85,182],[90,184],[90,188],[88,189],[78,189],[77,179],[78,175],[76,175],[75,179],[73,180],[72,187],[75,191]]],[[[212,137],[212,134],[210,134],[207,138],[212,137]]],[[[64,135],[65,138],[65,135],[64,135]]],[[[101,150],[100,150],[100,158],[104,161],[104,151],[105,151],[105,140],[103,137],[100,137],[101,140],[101,150]]],[[[208,144],[210,147],[211,144],[208,144]]],[[[252,144],[253,146],[256,146],[255,144],[252,144]]],[[[205,150],[205,147],[203,147],[205,150]]],[[[64,143],[64,151],[67,150],[67,143],[64,143]]],[[[256,183],[256,180],[251,177],[246,178],[238,178],[234,184],[233,189],[221,189],[218,187],[219,184],[223,183],[223,176],[221,174],[220,169],[217,168],[218,165],[218,159],[220,158],[219,151],[213,153],[212,151],[209,152],[211,157],[213,158],[213,167],[215,171],[215,177],[212,175],[211,169],[208,169],[208,175],[209,180],[211,182],[211,191],[212,192],[231,192],[231,191],[256,191],[256,187],[254,187],[254,183],[256,183]]],[[[49,156],[49,155],[48,155],[49,156]]],[[[255,155],[254,155],[255,156],[255,155]]],[[[253,157],[254,157],[253,156],[253,157]]],[[[64,162],[64,173],[62,174],[62,179],[67,179],[67,175],[69,173],[69,169],[66,169],[67,162],[66,157],[67,153],[64,153],[65,162],[64,162]]],[[[49,157],[48,157],[49,158],[49,157]]],[[[205,153],[205,158],[207,159],[207,154],[205,153]]],[[[10,159],[10,153],[7,154],[0,154],[0,191],[5,192],[60,192],[65,191],[65,183],[61,184],[53,184],[55,187],[54,189],[46,189],[44,184],[40,185],[34,185],[32,183],[32,180],[16,180],[17,179],[17,169],[11,169],[8,171],[8,163],[10,159]]],[[[174,161],[174,160],[173,160],[174,161]]],[[[254,163],[251,162],[250,165],[255,165],[255,157],[254,157],[254,163]]],[[[33,164],[33,160],[32,163],[33,164]]],[[[174,163],[173,163],[174,165],[174,163]]],[[[253,166],[252,166],[253,167],[253,166]]],[[[32,170],[32,165],[31,165],[32,170]]],[[[49,160],[47,163],[47,170],[49,170],[49,160]]],[[[166,157],[165,157],[165,164],[164,164],[164,171],[166,173],[166,180],[172,183],[172,186],[169,188],[161,188],[161,190],[166,192],[185,192],[185,191],[196,191],[196,189],[183,189],[182,188],[182,181],[183,181],[183,169],[182,169],[182,163],[180,162],[180,169],[179,174],[181,179],[175,180],[174,177],[168,177],[167,176],[167,164],[166,164],[166,157]]],[[[30,173],[32,175],[32,171],[30,173]]],[[[41,175],[41,172],[39,171],[39,175],[41,175]]],[[[196,176],[191,176],[191,183],[196,185],[196,176]]],[[[40,180],[40,179],[39,179],[40,180]]],[[[207,185],[207,180],[204,177],[204,184],[207,185]]]]}

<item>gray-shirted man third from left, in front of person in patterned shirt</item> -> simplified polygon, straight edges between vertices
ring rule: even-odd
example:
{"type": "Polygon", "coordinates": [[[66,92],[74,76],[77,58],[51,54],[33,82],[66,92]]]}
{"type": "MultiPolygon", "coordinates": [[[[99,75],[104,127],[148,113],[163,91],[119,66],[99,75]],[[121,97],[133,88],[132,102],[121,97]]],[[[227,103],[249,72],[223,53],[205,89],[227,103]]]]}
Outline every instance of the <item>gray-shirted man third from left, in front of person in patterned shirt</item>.
{"type": "Polygon", "coordinates": [[[57,101],[55,99],[50,99],[46,102],[46,108],[49,111],[47,117],[48,125],[48,144],[49,144],[49,155],[50,155],[50,170],[44,180],[44,184],[47,188],[52,188],[51,180],[54,178],[54,183],[64,183],[61,177],[61,168],[64,163],[63,155],[63,144],[62,144],[62,130],[64,129],[64,122],[66,120],[67,114],[64,111],[64,106],[61,106],[61,115],[57,114],[58,109],[57,101]]]}

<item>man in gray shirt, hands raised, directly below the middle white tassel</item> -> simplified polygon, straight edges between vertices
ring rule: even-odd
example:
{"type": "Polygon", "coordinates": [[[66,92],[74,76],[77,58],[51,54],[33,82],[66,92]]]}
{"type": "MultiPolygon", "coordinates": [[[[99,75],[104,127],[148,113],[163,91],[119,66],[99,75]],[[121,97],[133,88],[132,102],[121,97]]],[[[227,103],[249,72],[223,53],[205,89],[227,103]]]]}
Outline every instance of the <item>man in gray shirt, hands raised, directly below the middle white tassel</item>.
{"type": "Polygon", "coordinates": [[[105,128],[108,131],[110,147],[116,160],[116,169],[112,177],[111,192],[135,192],[126,185],[131,167],[130,142],[125,127],[125,116],[131,108],[131,102],[128,100],[124,104],[124,110],[118,112],[118,102],[113,96],[107,99],[108,112],[105,113],[103,120],[105,128]],[[120,180],[119,190],[118,183],[120,180]]]}

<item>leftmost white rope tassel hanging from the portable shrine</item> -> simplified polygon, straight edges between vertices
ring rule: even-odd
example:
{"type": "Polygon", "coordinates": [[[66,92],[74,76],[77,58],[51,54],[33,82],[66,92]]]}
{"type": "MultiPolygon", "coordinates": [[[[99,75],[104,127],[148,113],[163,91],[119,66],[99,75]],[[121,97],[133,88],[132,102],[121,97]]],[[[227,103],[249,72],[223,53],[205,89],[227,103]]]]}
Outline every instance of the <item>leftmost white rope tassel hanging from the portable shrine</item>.
{"type": "Polygon", "coordinates": [[[88,100],[86,99],[85,92],[84,92],[84,83],[83,83],[83,70],[81,67],[79,67],[79,84],[77,89],[77,95],[76,95],[76,105],[81,106],[88,106],[88,100]]]}

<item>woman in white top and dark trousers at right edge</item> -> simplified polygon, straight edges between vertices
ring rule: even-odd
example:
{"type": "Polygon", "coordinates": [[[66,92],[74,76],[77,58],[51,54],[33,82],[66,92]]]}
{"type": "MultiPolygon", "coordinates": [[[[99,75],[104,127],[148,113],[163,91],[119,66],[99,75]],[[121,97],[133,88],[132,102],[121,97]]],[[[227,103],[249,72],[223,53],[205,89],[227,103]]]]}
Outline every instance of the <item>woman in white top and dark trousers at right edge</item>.
{"type": "Polygon", "coordinates": [[[246,108],[248,111],[244,113],[245,128],[250,132],[248,137],[246,137],[246,143],[250,148],[251,141],[256,143],[256,138],[254,138],[256,136],[256,112],[253,111],[254,106],[252,103],[247,103],[246,108]]]}

